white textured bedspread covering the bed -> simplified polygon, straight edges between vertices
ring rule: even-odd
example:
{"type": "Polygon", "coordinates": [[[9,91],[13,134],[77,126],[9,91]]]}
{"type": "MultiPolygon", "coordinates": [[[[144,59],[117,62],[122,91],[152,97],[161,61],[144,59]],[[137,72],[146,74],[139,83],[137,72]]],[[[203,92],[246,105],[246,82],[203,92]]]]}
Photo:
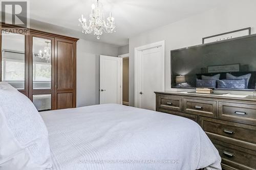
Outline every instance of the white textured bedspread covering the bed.
{"type": "Polygon", "coordinates": [[[115,104],[40,114],[52,169],[221,169],[201,127],[183,117],[115,104]]]}

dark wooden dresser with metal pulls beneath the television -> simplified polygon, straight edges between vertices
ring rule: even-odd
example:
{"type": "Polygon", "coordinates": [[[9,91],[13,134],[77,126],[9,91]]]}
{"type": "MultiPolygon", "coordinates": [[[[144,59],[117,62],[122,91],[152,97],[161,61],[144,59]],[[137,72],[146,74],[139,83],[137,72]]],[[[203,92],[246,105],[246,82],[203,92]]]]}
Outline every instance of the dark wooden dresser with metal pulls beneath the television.
{"type": "Polygon", "coordinates": [[[156,111],[197,122],[218,149],[222,168],[256,169],[256,98],[155,92],[156,111]]]}

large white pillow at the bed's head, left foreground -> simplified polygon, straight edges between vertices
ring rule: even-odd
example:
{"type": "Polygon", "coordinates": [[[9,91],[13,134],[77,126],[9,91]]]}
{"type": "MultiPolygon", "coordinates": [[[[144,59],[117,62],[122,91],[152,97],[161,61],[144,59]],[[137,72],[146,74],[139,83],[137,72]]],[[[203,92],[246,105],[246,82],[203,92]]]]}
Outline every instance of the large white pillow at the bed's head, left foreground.
{"type": "Polygon", "coordinates": [[[0,82],[0,169],[52,167],[48,131],[33,103],[0,82]]]}

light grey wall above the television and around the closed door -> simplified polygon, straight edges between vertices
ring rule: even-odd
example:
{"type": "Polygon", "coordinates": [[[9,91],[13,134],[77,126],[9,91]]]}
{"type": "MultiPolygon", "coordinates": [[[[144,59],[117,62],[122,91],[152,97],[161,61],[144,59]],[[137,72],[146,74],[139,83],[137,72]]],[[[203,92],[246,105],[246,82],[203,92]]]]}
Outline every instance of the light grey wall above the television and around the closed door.
{"type": "MultiPolygon", "coordinates": [[[[244,0],[154,29],[129,40],[130,106],[134,106],[134,48],[165,40],[165,89],[170,89],[170,51],[202,43],[202,38],[228,31],[252,27],[256,33],[256,1],[244,0]]],[[[231,93],[246,93],[230,91],[231,93]]],[[[249,95],[252,93],[247,92],[249,95]]]]}

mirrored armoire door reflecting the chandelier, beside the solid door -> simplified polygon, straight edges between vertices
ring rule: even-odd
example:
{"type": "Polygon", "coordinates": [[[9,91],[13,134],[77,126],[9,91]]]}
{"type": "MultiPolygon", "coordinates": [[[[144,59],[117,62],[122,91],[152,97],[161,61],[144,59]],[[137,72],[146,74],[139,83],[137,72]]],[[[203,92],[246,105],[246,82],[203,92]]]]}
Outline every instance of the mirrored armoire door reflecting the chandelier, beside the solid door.
{"type": "Polygon", "coordinates": [[[30,35],[30,99],[38,111],[54,109],[54,39],[30,35]]]}

